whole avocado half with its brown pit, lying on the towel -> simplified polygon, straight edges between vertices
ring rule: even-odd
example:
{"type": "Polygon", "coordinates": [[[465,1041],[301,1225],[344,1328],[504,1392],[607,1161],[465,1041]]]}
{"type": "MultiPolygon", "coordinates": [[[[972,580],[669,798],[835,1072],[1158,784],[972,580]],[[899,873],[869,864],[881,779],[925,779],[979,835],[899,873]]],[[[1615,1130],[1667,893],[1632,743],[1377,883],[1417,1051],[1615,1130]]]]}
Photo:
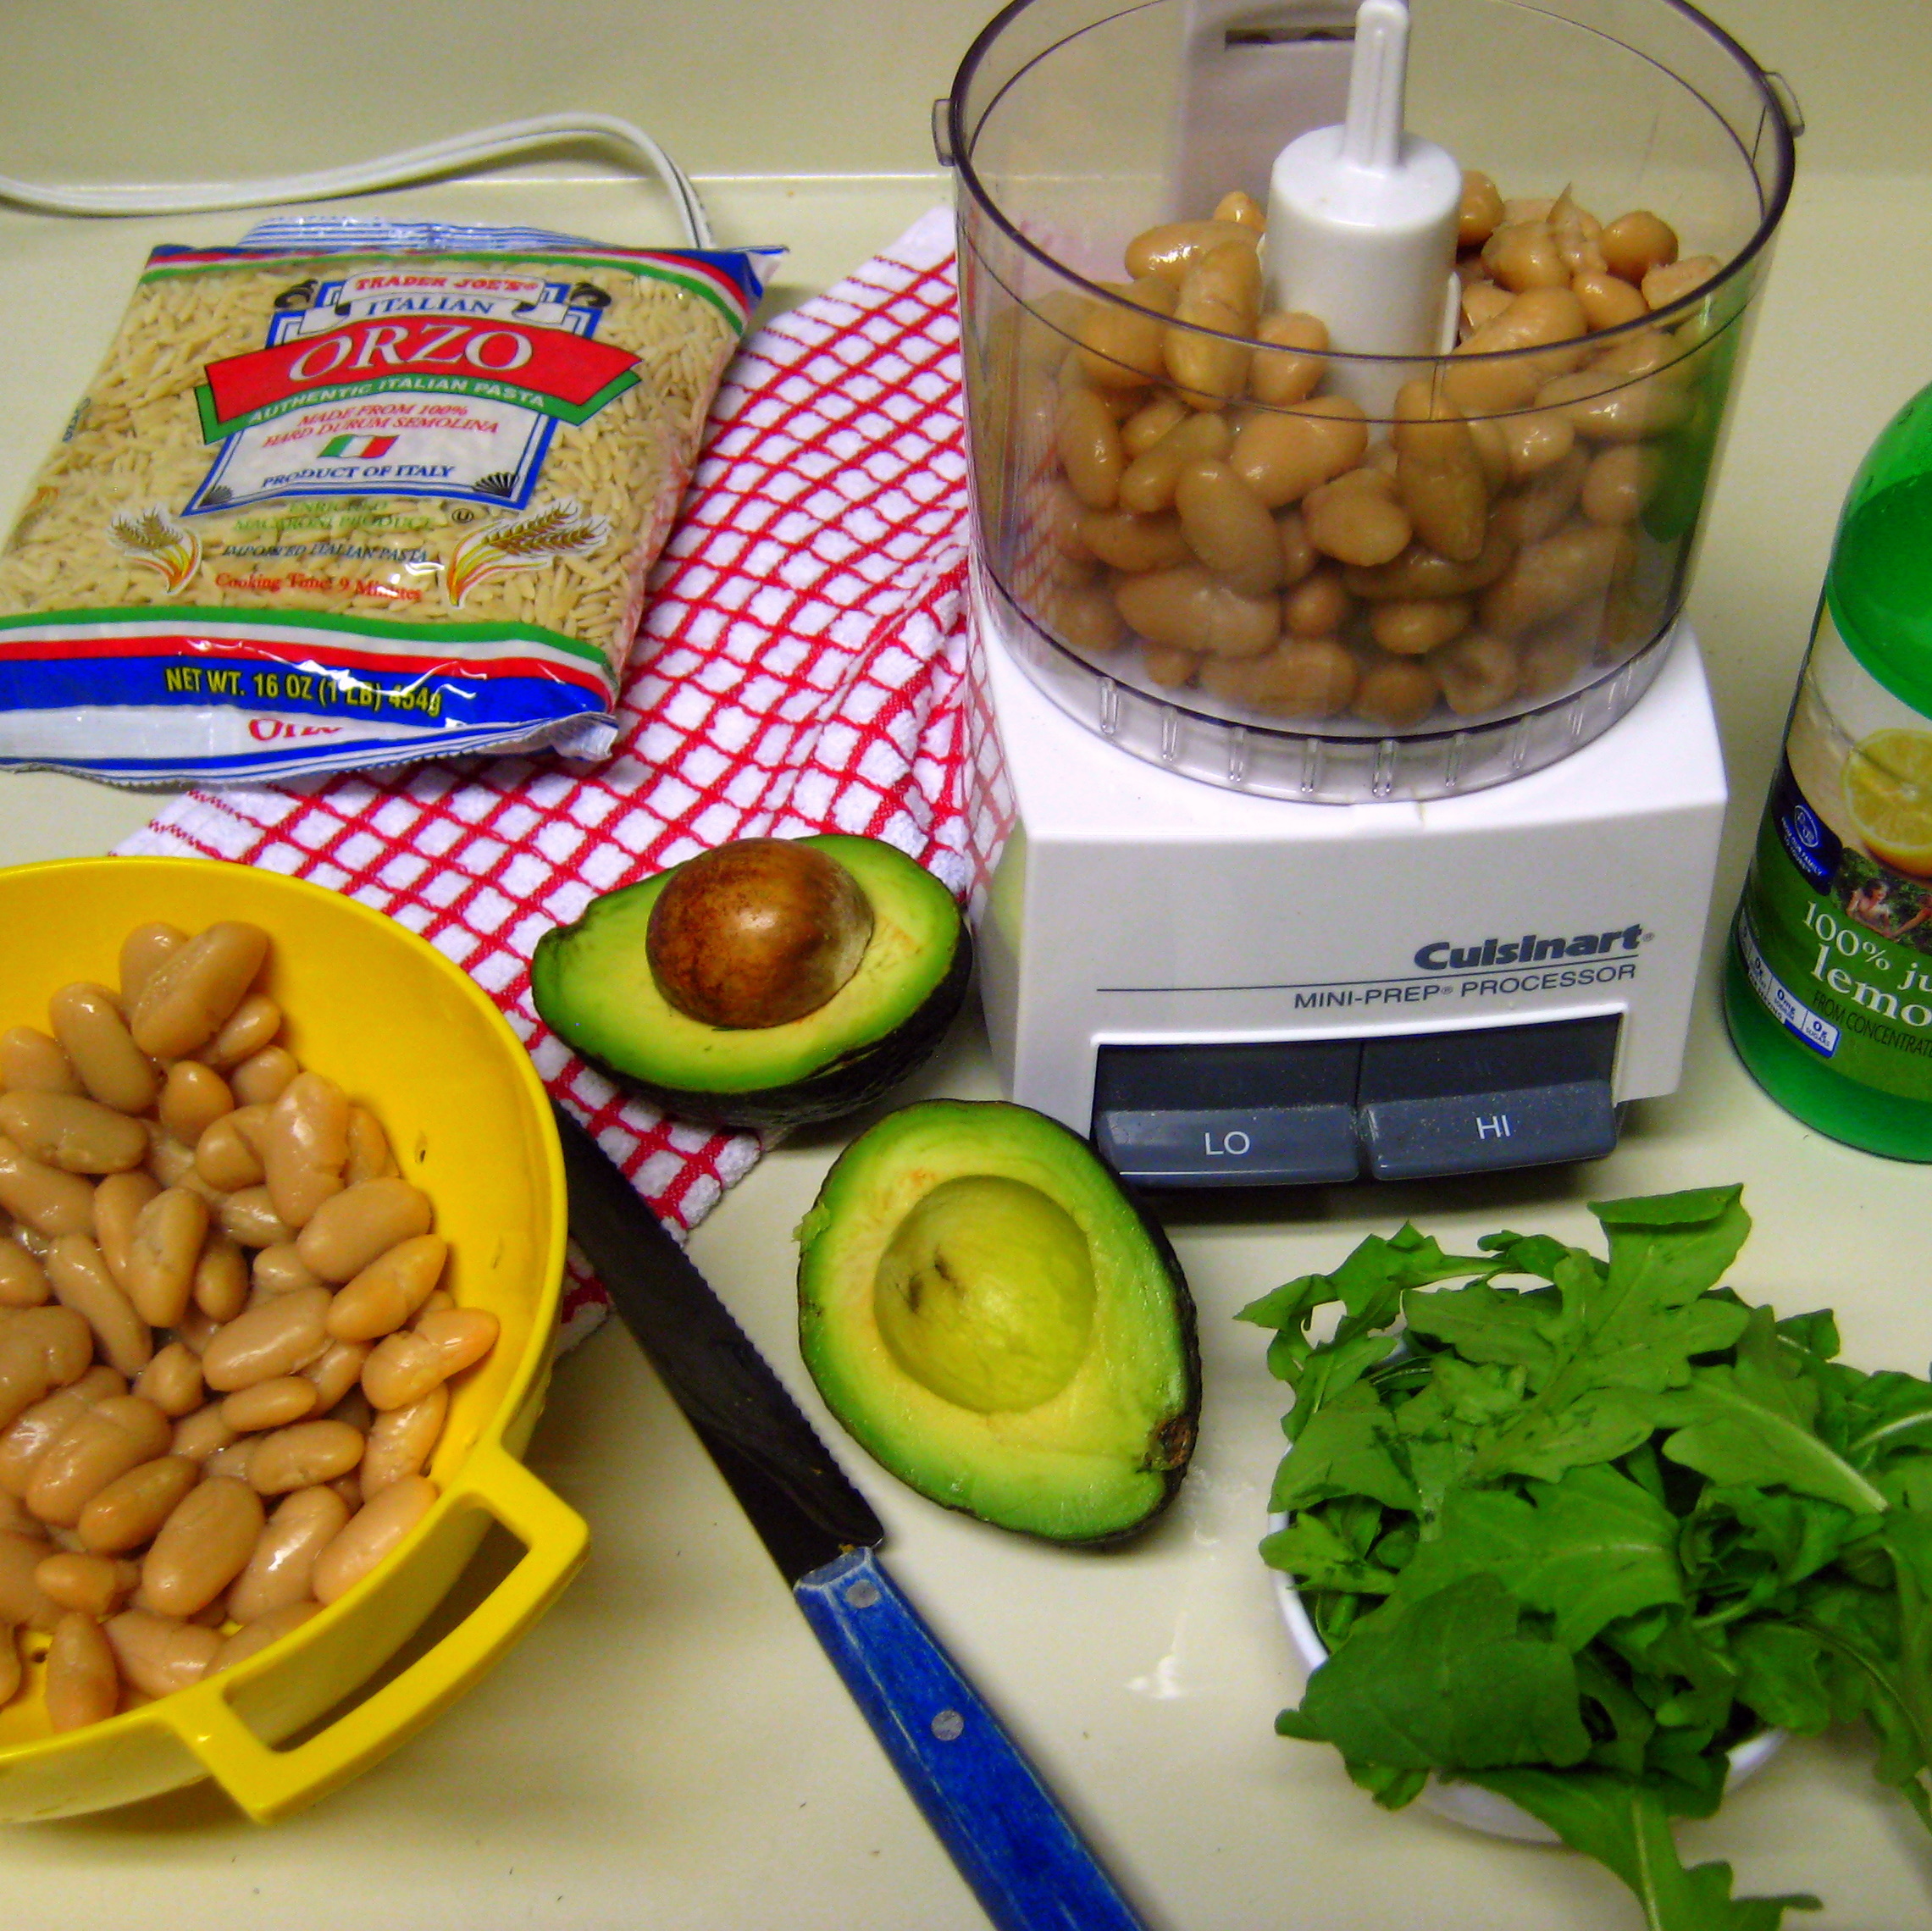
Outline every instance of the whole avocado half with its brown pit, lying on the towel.
{"type": "Polygon", "coordinates": [[[537,1012],[684,1120],[784,1128],[871,1105],[945,1035],[972,938],[879,838],[740,838],[593,898],[537,940],[537,1012]]]}

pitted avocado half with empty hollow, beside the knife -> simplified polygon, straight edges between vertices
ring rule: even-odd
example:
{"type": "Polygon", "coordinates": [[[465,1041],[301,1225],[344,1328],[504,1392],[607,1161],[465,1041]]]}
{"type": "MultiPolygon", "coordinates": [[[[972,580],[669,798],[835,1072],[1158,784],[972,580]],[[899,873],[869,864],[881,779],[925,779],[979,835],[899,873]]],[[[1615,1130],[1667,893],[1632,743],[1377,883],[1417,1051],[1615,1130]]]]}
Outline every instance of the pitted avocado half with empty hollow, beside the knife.
{"type": "Polygon", "coordinates": [[[1194,1303],[1159,1226],[1059,1122],[987,1101],[889,1114],[838,1157],[798,1242],[806,1367],[920,1495],[1107,1543],[1180,1487],[1194,1303]]]}

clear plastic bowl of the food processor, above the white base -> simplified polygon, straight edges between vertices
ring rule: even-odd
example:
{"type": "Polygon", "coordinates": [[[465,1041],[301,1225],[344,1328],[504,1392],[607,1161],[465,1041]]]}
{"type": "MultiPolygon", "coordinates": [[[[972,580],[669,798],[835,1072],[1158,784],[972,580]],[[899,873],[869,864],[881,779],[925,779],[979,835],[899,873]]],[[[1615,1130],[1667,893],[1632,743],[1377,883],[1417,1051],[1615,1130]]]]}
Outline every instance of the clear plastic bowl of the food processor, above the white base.
{"type": "MultiPolygon", "coordinates": [[[[935,118],[958,174],[981,610],[1057,705],[1122,749],[1312,801],[1495,784],[1588,743],[1644,693],[1683,612],[1799,126],[1750,56],[1675,0],[1414,0],[1412,133],[1503,197],[1567,191],[1604,224],[1652,210],[1681,259],[1710,257],[1712,272],[1555,344],[1393,367],[1329,355],[1314,396],[1260,400],[1265,315],[1227,332],[1150,309],[1124,255],[1148,228],[1206,218],[1233,189],[1265,209],[1279,149],[1341,120],[1350,31],[1352,6],[1333,0],[1016,0],[974,42],[935,118]],[[1196,431],[1208,446],[1223,431],[1229,448],[1254,444],[1252,425],[1267,419],[1264,440],[1300,434],[1279,419],[1323,413],[1337,388],[1372,392],[1366,365],[1420,382],[1410,396],[1430,409],[1453,402],[1480,442],[1488,523],[1461,572],[1430,562],[1426,545],[1383,566],[1329,560],[1320,575],[1347,599],[1331,585],[1291,610],[1287,560],[1281,583],[1252,591],[1250,579],[1235,604],[1192,531],[1177,537],[1171,508],[1138,508],[1157,487],[1126,523],[1109,502],[1115,458],[1103,448],[1095,467],[1080,454],[1082,436],[1105,442],[1099,415],[1122,434],[1134,417],[1144,434],[1177,411],[1219,415],[1196,431]],[[1175,367],[1246,375],[1231,390],[1190,388],[1175,367]],[[1565,454],[1551,458],[1557,444],[1565,454]],[[1132,568],[1122,545],[1138,546],[1132,568]],[[1161,572],[1169,581],[1151,589],[1134,581],[1161,572]],[[1418,601],[1435,608],[1387,610],[1418,601]],[[1464,628],[1424,647],[1457,602],[1464,628]],[[1209,606],[1235,618],[1204,616],[1209,606]],[[1283,641],[1258,647],[1264,635],[1283,641]],[[1196,647],[1204,637],[1211,645],[1196,647]]],[[[1385,404],[1368,417],[1362,467],[1393,469],[1395,413],[1385,404]]],[[[1264,504],[1285,558],[1302,502],[1264,504]]]]}

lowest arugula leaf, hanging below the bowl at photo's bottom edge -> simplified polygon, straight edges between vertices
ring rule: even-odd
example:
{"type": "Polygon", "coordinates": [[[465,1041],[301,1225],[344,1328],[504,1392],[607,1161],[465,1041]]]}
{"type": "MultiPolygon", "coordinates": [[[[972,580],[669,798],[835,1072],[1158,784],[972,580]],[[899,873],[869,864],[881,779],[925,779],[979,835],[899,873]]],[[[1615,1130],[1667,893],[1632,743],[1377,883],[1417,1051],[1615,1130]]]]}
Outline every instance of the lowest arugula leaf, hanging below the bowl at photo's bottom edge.
{"type": "Polygon", "coordinates": [[[1519,1804],[1571,1850],[1615,1871],[1642,1902],[1648,1931],[1779,1931],[1787,1910],[1818,1910],[1801,1892],[1733,1898],[1727,1863],[1685,1869],[1656,1790],[1609,1771],[1507,1769],[1466,1780],[1519,1804]]]}

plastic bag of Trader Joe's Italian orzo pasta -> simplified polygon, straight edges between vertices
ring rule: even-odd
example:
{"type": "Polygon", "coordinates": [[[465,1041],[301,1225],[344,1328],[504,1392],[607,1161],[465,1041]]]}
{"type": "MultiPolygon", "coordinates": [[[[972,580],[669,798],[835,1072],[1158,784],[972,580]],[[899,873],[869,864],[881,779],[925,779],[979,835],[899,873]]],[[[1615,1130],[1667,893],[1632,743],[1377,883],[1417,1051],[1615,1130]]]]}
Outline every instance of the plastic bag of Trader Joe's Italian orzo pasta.
{"type": "Polygon", "coordinates": [[[156,249],[0,550],[0,765],[601,757],[777,253],[336,218],[156,249]]]}

